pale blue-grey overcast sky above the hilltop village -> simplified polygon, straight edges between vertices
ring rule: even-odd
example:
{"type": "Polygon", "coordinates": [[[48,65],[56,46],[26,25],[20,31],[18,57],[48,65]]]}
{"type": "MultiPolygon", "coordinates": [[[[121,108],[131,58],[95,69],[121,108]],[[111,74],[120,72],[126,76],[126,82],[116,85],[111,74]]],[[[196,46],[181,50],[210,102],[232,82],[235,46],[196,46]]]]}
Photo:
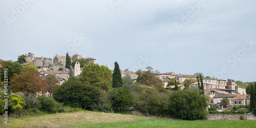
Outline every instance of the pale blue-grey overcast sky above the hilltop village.
{"type": "Polygon", "coordinates": [[[0,1],[0,58],[79,54],[137,71],[256,81],[256,1],[0,1]]]}

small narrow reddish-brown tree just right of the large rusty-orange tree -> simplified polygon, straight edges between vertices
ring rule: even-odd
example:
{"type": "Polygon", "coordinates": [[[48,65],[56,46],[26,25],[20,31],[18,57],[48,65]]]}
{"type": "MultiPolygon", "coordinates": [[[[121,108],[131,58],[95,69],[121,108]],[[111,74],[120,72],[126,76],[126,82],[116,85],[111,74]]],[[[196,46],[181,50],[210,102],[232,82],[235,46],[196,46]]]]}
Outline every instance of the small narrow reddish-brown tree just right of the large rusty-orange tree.
{"type": "Polygon", "coordinates": [[[46,89],[52,95],[54,89],[59,86],[59,81],[55,75],[48,75],[46,78],[46,89]]]}

